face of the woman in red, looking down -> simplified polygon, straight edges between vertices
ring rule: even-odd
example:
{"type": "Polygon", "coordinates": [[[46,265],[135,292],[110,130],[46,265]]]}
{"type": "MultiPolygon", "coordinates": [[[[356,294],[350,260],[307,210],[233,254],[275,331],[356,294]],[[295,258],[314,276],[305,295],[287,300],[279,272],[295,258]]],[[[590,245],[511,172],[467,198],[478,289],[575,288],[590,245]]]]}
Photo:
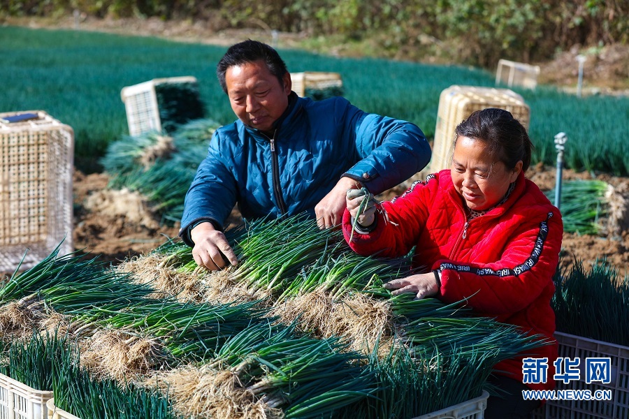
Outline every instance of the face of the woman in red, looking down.
{"type": "Polygon", "coordinates": [[[450,168],[456,191],[470,210],[488,210],[500,202],[522,169],[522,161],[507,170],[502,161],[494,162],[484,141],[458,137],[450,168]]]}

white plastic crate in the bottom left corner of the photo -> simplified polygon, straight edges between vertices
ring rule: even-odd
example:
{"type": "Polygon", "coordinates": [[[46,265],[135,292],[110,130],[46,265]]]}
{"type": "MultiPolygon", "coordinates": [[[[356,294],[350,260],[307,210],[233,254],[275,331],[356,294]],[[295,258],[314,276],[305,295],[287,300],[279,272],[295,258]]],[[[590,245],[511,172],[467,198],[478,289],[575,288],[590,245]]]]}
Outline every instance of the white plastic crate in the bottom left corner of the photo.
{"type": "Polygon", "coordinates": [[[52,399],[52,391],[35,390],[0,374],[0,418],[47,419],[49,399],[52,399]]]}

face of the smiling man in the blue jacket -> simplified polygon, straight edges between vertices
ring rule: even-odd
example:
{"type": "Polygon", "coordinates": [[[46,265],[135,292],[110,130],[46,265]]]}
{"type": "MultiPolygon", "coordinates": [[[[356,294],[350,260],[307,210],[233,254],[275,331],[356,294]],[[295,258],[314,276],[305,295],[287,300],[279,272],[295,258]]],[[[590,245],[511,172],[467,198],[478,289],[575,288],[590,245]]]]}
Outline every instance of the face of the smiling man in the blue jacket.
{"type": "Polygon", "coordinates": [[[288,107],[291,75],[284,75],[283,81],[280,84],[261,60],[227,68],[225,82],[231,109],[245,125],[271,131],[288,107]]]}

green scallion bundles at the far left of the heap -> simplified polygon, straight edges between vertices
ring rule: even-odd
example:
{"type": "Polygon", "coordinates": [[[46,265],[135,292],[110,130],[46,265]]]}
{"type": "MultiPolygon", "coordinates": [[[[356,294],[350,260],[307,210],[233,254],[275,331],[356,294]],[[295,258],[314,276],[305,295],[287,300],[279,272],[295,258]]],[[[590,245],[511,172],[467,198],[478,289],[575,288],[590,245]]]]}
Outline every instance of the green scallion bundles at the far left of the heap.
{"type": "MultiPolygon", "coordinates": [[[[150,297],[154,290],[96,259],[57,251],[31,270],[15,273],[0,288],[0,302],[18,300],[23,311],[64,315],[68,331],[94,335],[102,328],[159,339],[175,358],[212,356],[229,336],[263,316],[254,303],[185,304],[150,297]]],[[[33,325],[36,327],[36,325],[33,325]]]]}

